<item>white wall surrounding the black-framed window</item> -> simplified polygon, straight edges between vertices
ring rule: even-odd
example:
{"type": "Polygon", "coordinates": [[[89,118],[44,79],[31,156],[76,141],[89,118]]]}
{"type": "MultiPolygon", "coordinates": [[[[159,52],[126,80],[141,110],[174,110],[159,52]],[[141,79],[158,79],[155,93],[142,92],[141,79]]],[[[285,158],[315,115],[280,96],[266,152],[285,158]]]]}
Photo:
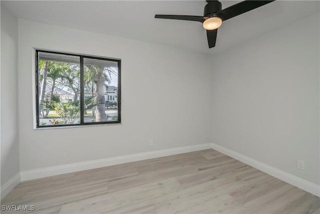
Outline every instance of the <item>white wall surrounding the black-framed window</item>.
{"type": "Polygon", "coordinates": [[[19,20],[21,171],[209,143],[211,74],[206,62],[202,54],[172,47],[19,20]],[[120,58],[122,124],[33,130],[33,48],[120,58]]]}

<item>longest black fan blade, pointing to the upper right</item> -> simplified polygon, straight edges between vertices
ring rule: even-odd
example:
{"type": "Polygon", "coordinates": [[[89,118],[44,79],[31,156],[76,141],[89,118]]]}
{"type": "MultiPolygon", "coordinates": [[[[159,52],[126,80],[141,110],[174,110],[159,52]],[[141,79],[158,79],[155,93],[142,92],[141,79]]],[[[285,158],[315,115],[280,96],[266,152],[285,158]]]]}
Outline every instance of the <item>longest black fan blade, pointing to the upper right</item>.
{"type": "Polygon", "coordinates": [[[222,11],[217,12],[215,15],[220,17],[222,21],[225,21],[232,17],[244,14],[248,11],[259,8],[271,2],[274,1],[243,1],[238,4],[232,5],[228,8],[225,8],[222,11]]]}

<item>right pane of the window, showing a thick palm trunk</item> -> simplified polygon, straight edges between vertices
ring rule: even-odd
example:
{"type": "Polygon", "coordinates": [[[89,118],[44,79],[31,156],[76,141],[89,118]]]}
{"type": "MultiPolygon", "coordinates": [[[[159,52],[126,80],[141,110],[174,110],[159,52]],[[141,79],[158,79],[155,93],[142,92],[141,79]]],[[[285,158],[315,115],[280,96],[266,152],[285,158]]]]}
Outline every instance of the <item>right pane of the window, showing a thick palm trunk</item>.
{"type": "Polygon", "coordinates": [[[118,121],[118,64],[83,58],[84,123],[118,121]],[[112,99],[114,96],[114,99],[112,99]]]}

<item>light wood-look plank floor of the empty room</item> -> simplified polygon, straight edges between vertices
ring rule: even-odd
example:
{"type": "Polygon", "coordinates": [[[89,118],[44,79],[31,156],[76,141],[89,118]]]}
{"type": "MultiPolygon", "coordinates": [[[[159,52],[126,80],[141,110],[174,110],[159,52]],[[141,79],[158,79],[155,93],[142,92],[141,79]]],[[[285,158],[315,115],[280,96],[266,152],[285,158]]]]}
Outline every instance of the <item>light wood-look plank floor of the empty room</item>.
{"type": "Polygon", "coordinates": [[[319,213],[320,202],[207,149],[23,181],[1,205],[34,205],[33,213],[319,213]]]}

